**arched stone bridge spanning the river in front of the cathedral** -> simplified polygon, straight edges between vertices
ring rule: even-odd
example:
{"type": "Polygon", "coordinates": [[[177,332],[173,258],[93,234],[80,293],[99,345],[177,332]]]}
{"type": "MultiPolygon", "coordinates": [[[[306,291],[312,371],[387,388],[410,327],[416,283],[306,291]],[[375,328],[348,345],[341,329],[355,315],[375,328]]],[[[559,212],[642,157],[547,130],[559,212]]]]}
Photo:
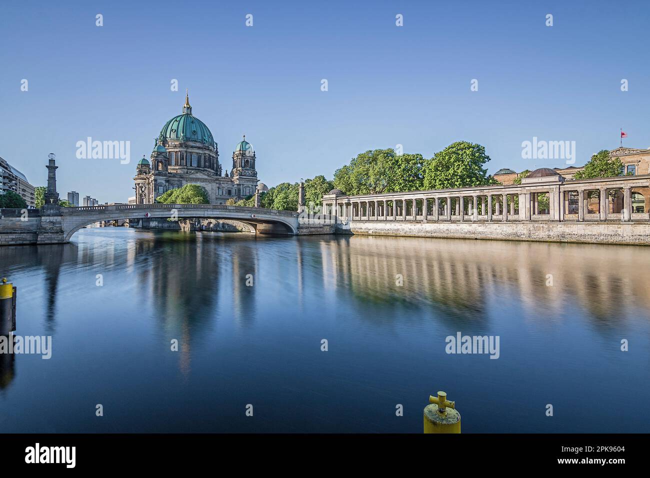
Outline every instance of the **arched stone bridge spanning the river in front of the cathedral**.
{"type": "Polygon", "coordinates": [[[305,213],[222,204],[116,204],[111,206],[2,209],[0,245],[67,243],[90,224],[128,219],[228,219],[246,224],[255,233],[280,235],[326,234],[333,220],[305,213]]]}

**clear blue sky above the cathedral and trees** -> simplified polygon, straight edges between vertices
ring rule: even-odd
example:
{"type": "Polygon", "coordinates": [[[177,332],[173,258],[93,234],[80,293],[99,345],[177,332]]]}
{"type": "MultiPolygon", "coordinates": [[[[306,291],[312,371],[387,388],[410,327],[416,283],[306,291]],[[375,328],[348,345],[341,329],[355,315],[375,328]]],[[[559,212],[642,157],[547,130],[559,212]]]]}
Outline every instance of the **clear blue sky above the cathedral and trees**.
{"type": "Polygon", "coordinates": [[[641,1],[5,2],[0,156],[44,185],[54,152],[62,197],[125,202],[189,88],[224,168],[245,133],[269,186],[396,144],[478,142],[495,172],[562,166],[522,159],[521,142],[575,140],[582,165],[621,127],[650,147],[649,20],[641,1]],[[130,141],[131,163],[77,159],[89,136],[130,141]]]}

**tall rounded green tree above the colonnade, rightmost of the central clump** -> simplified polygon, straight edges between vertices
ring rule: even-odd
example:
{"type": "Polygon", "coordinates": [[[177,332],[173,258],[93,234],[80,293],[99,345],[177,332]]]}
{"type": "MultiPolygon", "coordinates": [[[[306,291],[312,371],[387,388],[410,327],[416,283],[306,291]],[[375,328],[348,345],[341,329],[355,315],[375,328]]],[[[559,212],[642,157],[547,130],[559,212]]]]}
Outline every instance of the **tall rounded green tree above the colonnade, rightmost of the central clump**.
{"type": "Polygon", "coordinates": [[[484,146],[457,141],[435,153],[424,168],[425,189],[498,184],[483,166],[490,158],[484,146]]]}

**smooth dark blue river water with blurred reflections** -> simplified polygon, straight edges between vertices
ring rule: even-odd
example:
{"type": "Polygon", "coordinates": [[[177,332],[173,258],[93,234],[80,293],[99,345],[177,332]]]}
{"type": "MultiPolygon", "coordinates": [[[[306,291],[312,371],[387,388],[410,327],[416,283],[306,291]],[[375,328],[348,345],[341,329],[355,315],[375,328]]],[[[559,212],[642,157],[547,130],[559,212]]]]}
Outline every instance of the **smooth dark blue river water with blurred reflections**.
{"type": "Polygon", "coordinates": [[[0,358],[0,432],[419,433],[437,390],[463,432],[648,432],[649,270],[642,246],[392,237],[3,247],[16,334],[53,351],[0,358]],[[500,357],[447,354],[457,332],[500,357]]]}

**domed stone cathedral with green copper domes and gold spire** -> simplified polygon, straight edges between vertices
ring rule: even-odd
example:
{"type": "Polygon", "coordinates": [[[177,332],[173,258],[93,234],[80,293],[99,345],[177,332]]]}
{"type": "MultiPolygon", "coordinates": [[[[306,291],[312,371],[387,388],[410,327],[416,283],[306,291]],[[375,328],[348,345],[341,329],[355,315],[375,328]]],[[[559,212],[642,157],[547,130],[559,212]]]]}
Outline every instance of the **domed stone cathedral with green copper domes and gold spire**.
{"type": "Polygon", "coordinates": [[[263,183],[257,185],[255,151],[241,140],[233,152],[233,166],[222,171],[219,149],[210,130],[192,115],[185,94],[183,114],[174,116],[162,127],[151,153],[151,163],[142,157],[136,168],[135,202],[151,204],[170,189],[186,184],[203,186],[211,204],[226,204],[229,199],[240,200],[256,189],[268,191],[263,183]]]}

